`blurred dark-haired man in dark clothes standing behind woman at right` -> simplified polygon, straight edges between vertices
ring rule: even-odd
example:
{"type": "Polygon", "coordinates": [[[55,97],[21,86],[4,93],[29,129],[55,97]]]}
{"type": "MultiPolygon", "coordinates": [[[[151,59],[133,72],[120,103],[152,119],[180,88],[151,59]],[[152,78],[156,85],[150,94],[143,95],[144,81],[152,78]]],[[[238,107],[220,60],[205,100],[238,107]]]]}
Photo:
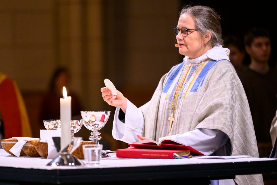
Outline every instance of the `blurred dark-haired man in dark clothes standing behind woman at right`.
{"type": "Polygon", "coordinates": [[[277,71],[268,64],[271,53],[269,32],[264,28],[251,28],[245,34],[244,44],[251,61],[237,74],[249,102],[259,156],[269,157],[272,149],[269,130],[276,112],[277,94],[277,71]]]}

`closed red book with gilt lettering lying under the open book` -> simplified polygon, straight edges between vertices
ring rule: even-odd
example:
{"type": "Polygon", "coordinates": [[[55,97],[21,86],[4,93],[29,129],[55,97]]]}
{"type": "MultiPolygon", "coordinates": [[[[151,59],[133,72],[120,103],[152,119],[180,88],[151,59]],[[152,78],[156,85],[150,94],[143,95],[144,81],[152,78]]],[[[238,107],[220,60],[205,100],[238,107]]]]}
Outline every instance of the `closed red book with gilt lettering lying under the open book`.
{"type": "Polygon", "coordinates": [[[163,150],[163,149],[143,149],[143,148],[125,148],[116,151],[117,157],[123,158],[160,158],[160,159],[173,159],[176,156],[189,156],[189,150],[163,150]]]}

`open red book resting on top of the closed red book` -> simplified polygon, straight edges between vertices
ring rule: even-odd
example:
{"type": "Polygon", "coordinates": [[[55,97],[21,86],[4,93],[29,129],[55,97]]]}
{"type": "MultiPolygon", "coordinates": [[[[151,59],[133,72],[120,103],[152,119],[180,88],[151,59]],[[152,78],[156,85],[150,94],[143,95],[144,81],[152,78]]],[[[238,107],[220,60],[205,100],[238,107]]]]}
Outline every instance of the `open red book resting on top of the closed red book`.
{"type": "Polygon", "coordinates": [[[190,155],[194,156],[205,156],[200,151],[192,148],[191,146],[184,145],[172,139],[163,139],[160,143],[154,140],[142,140],[128,144],[134,148],[144,149],[166,149],[166,150],[190,150],[190,155]]]}

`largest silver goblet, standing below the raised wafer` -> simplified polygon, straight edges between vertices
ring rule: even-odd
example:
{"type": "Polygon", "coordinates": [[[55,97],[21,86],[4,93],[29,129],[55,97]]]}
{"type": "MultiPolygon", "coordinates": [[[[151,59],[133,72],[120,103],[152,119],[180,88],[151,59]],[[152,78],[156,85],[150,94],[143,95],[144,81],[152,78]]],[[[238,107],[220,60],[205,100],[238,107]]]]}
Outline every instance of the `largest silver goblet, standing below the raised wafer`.
{"type": "MultiPolygon", "coordinates": [[[[101,133],[98,132],[101,128],[104,127],[106,122],[108,121],[108,118],[110,116],[111,111],[108,110],[102,110],[102,111],[81,111],[81,116],[83,118],[83,124],[87,129],[91,130],[90,133],[91,136],[89,136],[89,140],[92,140],[96,142],[96,144],[99,144],[99,141],[101,139],[101,136],[99,136],[101,133]]],[[[102,151],[102,158],[104,157],[110,157],[106,153],[102,151]]]]}

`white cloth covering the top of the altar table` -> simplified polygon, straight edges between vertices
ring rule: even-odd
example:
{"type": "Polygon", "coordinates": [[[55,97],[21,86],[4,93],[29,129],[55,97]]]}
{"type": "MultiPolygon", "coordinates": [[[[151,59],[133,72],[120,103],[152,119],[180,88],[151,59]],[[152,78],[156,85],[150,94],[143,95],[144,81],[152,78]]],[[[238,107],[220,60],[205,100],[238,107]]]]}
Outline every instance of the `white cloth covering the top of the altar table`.
{"type": "MultiPolygon", "coordinates": [[[[99,166],[46,166],[51,159],[42,157],[34,158],[29,156],[12,156],[0,149],[0,166],[25,168],[25,169],[83,169],[83,168],[120,168],[120,167],[136,167],[136,166],[166,166],[166,165],[183,165],[183,164],[207,164],[207,163],[229,163],[229,162],[251,162],[251,161],[269,161],[276,160],[272,158],[237,158],[237,159],[201,159],[197,157],[185,159],[133,159],[133,158],[117,158],[115,153],[109,153],[111,158],[101,158],[99,166]]],[[[82,160],[84,162],[84,160],[82,160]]]]}

